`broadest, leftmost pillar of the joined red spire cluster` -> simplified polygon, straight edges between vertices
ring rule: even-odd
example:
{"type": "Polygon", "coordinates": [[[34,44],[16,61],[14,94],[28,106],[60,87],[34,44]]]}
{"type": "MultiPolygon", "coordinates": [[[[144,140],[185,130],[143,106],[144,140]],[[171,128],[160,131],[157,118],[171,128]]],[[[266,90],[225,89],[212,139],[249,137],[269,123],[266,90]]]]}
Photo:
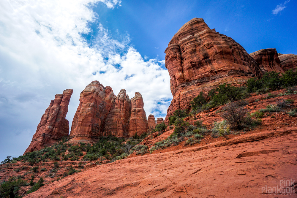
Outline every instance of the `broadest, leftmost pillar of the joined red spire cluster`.
{"type": "Polygon", "coordinates": [[[103,123],[115,97],[111,87],[104,87],[97,80],[86,86],[80,93],[80,104],[72,121],[72,140],[90,140],[102,135],[103,123]]]}

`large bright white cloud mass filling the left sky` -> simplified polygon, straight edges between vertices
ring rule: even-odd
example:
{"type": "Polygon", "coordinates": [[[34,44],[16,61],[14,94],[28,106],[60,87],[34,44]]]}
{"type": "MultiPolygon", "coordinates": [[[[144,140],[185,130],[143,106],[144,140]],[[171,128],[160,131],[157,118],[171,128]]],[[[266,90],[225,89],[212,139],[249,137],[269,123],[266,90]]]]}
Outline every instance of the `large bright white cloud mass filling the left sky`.
{"type": "Polygon", "coordinates": [[[166,114],[172,95],[168,71],[162,69],[164,60],[146,56],[144,60],[129,47],[129,34],[120,41],[113,39],[100,23],[91,47],[81,36],[97,20],[91,9],[97,2],[109,8],[121,3],[0,1],[0,161],[15,154],[7,150],[11,146],[21,147],[18,155],[22,154],[50,100],[67,88],[74,90],[67,114],[71,125],[79,94],[93,80],[111,86],[116,95],[123,88],[130,98],[140,92],[147,116],[166,114]],[[8,137],[15,138],[9,147],[5,143],[8,137]]]}

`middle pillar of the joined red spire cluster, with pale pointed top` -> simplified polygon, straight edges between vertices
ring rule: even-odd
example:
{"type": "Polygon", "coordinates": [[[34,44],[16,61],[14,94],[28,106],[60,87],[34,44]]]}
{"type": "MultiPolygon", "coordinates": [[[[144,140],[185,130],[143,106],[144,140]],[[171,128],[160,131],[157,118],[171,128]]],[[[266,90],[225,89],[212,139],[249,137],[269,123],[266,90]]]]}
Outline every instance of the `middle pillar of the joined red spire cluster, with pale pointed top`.
{"type": "Polygon", "coordinates": [[[131,100],[122,89],[112,103],[111,111],[105,120],[103,135],[129,137],[129,118],[131,114],[131,100]]]}

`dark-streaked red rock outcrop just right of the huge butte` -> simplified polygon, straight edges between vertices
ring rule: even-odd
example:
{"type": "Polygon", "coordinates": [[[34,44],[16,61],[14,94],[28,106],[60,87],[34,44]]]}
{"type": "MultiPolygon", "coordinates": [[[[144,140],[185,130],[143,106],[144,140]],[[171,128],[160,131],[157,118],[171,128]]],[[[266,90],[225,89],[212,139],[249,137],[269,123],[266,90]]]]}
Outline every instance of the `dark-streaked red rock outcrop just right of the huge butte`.
{"type": "Polygon", "coordinates": [[[276,49],[262,49],[249,55],[255,59],[263,73],[272,71],[284,73],[276,49]]]}

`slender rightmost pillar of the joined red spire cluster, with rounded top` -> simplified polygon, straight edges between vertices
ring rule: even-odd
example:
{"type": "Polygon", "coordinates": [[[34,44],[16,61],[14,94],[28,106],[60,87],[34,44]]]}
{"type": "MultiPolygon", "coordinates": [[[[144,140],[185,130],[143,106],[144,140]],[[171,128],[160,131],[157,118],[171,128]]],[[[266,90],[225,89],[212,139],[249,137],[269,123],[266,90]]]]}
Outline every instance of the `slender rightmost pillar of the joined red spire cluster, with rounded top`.
{"type": "Polygon", "coordinates": [[[143,99],[139,92],[135,92],[135,96],[131,99],[131,117],[129,119],[129,137],[136,132],[138,135],[146,133],[149,129],[146,120],[146,112],[143,109],[143,99]]]}

